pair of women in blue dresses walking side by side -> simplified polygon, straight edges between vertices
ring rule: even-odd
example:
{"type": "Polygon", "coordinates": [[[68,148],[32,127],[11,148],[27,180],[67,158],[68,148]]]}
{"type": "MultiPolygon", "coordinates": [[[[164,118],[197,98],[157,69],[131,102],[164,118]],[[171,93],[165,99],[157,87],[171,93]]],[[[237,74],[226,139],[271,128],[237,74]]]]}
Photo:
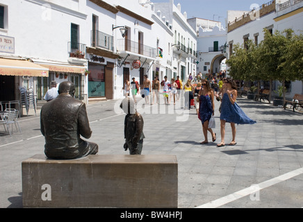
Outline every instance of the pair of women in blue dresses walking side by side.
{"type": "MultiPolygon", "coordinates": [[[[198,86],[198,85],[197,85],[198,86]]],[[[224,78],[224,84],[220,91],[214,92],[208,80],[202,80],[202,87],[199,89],[197,101],[199,103],[198,117],[202,121],[204,141],[201,144],[208,144],[208,132],[211,133],[212,141],[216,140],[216,133],[213,132],[208,123],[215,114],[215,98],[221,101],[220,105],[220,133],[221,142],[218,147],[225,146],[225,125],[231,124],[232,140],[229,146],[236,145],[236,124],[254,124],[256,121],[249,119],[243,110],[236,103],[236,83],[231,78],[224,78]]]]}

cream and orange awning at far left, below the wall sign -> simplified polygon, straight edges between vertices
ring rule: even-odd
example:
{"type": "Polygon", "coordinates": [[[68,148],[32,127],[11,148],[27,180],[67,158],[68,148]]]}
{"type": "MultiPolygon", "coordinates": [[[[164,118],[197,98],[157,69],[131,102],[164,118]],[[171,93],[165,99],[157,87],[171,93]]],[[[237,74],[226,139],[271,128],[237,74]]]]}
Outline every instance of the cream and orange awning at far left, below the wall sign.
{"type": "Polygon", "coordinates": [[[28,60],[0,58],[0,75],[48,77],[49,69],[28,60]]]}

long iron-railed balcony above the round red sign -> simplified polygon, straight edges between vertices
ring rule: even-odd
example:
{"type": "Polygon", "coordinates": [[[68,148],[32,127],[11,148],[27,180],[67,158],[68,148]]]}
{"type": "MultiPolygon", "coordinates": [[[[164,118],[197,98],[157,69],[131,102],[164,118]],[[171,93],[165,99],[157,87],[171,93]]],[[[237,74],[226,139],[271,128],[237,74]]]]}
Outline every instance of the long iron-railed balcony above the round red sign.
{"type": "Polygon", "coordinates": [[[129,51],[150,58],[156,58],[157,56],[156,49],[146,46],[145,44],[139,44],[138,42],[124,39],[117,40],[117,52],[119,53],[121,51],[129,51]]]}

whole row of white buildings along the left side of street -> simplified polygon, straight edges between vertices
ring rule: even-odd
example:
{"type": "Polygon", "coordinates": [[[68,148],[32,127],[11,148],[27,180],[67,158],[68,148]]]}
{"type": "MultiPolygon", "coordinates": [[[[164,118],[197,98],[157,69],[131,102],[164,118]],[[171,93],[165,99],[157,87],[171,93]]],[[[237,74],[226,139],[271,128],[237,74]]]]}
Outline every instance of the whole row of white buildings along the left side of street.
{"type": "Polygon", "coordinates": [[[19,87],[42,101],[52,80],[74,82],[85,103],[122,98],[124,81],[135,77],[142,87],[145,74],[186,80],[197,72],[197,36],[186,19],[172,0],[3,0],[0,101],[19,100],[19,87]]]}

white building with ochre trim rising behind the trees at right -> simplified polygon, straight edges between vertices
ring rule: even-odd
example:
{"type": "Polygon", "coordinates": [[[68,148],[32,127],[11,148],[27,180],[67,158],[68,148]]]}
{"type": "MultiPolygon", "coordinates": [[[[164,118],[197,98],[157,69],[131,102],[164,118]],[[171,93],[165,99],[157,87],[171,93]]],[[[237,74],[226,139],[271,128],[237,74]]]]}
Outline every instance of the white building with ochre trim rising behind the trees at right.
{"type": "MultiPolygon", "coordinates": [[[[270,32],[284,31],[286,28],[292,28],[296,34],[303,31],[303,1],[302,0],[279,0],[270,1],[263,4],[256,10],[247,12],[228,12],[228,29],[227,29],[227,43],[229,49],[227,50],[227,58],[233,51],[234,44],[245,44],[247,40],[253,40],[259,44],[264,39],[263,28],[267,28],[270,32]],[[238,17],[239,15],[241,15],[238,17]],[[236,16],[236,17],[234,17],[236,16]]],[[[274,88],[280,85],[276,81],[274,88]]],[[[294,94],[303,93],[302,81],[286,83],[287,94],[286,97],[292,98],[294,94]]]]}

